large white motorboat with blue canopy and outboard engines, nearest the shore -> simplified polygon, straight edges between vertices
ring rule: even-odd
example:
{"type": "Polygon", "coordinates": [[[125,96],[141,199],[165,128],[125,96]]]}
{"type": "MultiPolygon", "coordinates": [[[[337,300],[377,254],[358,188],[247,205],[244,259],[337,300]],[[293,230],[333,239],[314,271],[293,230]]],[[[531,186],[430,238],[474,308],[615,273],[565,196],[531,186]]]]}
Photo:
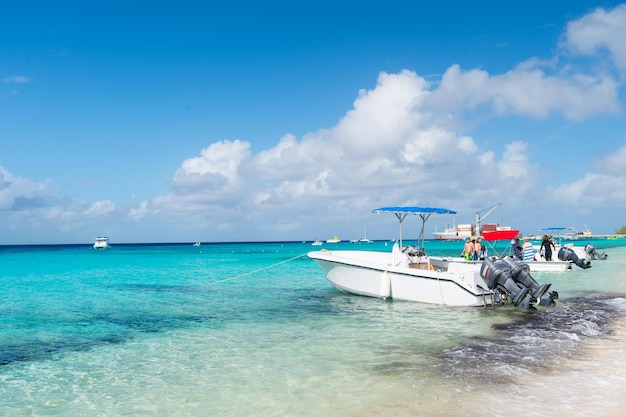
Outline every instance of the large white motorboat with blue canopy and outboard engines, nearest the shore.
{"type": "MultiPolygon", "coordinates": [[[[554,305],[556,292],[547,293],[549,284],[537,284],[527,269],[513,268],[503,260],[472,262],[455,258],[427,256],[424,224],[432,214],[455,214],[442,208],[385,207],[374,213],[393,213],[400,230],[391,252],[369,250],[321,250],[308,253],[325,272],[335,288],[358,295],[416,301],[446,306],[486,306],[513,302],[532,308],[535,304],[554,305]],[[402,222],[417,215],[422,219],[420,247],[403,246],[402,222]],[[519,283],[518,279],[524,282],[519,283]]],[[[527,267],[525,267],[527,268],[527,267]]]]}

